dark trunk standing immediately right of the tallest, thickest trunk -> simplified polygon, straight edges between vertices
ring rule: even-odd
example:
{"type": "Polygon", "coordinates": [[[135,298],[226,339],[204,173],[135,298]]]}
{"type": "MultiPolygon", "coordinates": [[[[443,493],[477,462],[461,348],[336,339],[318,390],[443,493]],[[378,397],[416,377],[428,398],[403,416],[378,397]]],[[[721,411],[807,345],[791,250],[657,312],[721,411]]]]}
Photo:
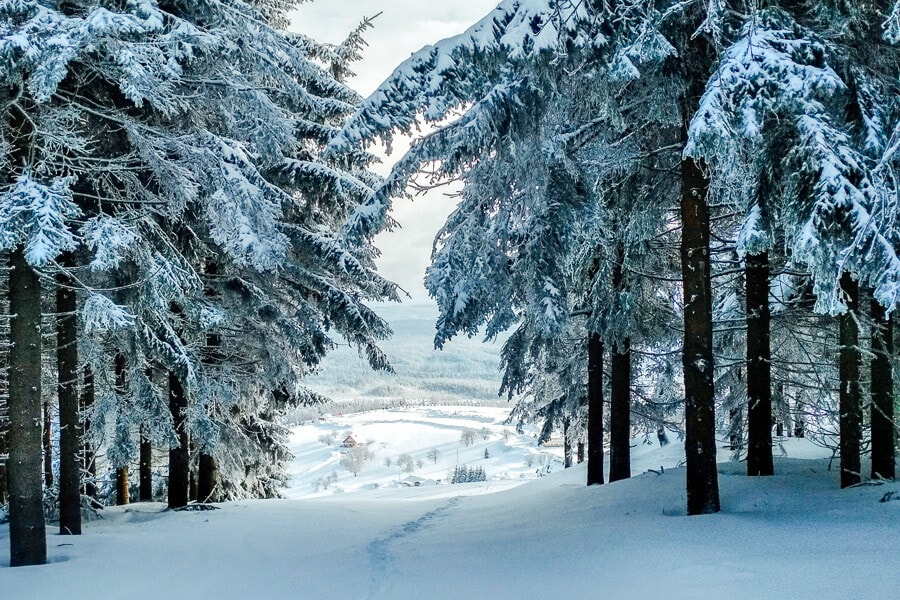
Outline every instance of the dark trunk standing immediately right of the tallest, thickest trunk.
{"type": "Polygon", "coordinates": [[[747,475],[774,475],[769,254],[747,256],[747,475]]]}

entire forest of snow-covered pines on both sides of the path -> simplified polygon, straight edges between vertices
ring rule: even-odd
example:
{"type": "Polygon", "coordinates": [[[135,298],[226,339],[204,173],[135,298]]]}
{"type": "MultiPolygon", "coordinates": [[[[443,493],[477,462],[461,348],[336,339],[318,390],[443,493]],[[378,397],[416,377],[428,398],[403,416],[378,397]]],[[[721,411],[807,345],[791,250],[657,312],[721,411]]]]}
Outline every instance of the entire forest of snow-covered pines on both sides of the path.
{"type": "Polygon", "coordinates": [[[374,238],[448,181],[435,346],[508,336],[511,419],[587,485],[667,429],[688,515],[773,432],[895,478],[900,2],[503,0],[365,99],[373,22],[322,43],[298,4],[0,2],[12,566],[95,507],[277,497],[336,340],[391,370],[374,238]]]}

